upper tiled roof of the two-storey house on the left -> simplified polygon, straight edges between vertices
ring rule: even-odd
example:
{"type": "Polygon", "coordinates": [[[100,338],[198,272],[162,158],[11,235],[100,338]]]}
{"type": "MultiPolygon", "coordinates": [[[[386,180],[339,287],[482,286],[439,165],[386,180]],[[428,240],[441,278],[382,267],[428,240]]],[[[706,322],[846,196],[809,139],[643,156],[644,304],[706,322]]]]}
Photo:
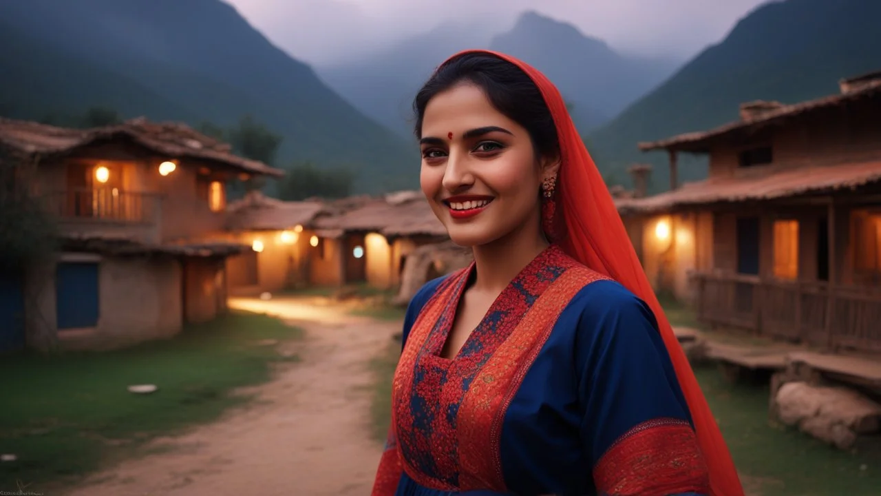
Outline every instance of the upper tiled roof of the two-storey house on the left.
{"type": "Polygon", "coordinates": [[[196,132],[186,124],[152,123],[141,117],[105,127],[71,129],[0,117],[0,145],[19,154],[69,154],[79,148],[114,139],[131,139],[169,158],[217,162],[251,174],[285,175],[284,171],[273,169],[263,162],[233,154],[226,143],[196,132]]]}

